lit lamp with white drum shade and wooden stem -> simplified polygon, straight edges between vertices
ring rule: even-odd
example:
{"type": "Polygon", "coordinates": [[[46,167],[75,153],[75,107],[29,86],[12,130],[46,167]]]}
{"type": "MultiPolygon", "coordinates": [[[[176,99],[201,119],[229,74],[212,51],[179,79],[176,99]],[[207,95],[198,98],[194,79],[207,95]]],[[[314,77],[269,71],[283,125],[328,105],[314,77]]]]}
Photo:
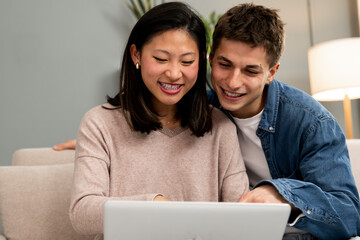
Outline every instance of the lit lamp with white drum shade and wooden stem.
{"type": "Polygon", "coordinates": [[[360,38],[317,44],[308,52],[310,87],[318,101],[343,101],[346,137],[353,138],[351,99],[360,98],[360,38]]]}

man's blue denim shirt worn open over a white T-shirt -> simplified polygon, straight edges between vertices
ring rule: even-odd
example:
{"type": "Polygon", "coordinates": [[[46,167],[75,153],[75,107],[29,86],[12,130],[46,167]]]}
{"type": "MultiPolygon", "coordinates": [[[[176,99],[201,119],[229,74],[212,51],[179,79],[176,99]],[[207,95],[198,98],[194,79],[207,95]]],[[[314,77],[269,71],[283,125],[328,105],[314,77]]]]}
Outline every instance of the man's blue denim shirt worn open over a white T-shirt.
{"type": "MultiPolygon", "coordinates": [[[[256,134],[273,179],[255,187],[270,183],[299,208],[305,216],[294,224],[298,229],[321,239],[359,235],[359,195],[340,126],[305,92],[277,80],[266,88],[256,134]]],[[[214,91],[208,97],[221,108],[214,91]]]]}

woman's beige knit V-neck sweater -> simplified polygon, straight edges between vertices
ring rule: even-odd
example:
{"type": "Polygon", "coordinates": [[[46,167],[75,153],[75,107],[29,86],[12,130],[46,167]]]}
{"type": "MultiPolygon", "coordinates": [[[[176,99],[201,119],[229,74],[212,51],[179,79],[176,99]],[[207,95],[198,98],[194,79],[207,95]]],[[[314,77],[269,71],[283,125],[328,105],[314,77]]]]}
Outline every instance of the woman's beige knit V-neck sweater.
{"type": "Polygon", "coordinates": [[[218,109],[212,133],[196,137],[182,127],[132,131],[120,109],[104,106],[112,108],[90,110],[78,133],[70,207],[78,232],[101,238],[109,199],[237,201],[248,191],[235,125],[218,109]]]}

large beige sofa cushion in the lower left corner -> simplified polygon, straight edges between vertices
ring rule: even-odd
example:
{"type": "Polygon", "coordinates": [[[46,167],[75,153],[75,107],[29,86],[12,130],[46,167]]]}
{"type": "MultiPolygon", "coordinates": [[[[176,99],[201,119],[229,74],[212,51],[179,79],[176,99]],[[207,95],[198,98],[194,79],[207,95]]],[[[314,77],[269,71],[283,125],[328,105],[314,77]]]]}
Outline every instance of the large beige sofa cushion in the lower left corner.
{"type": "Polygon", "coordinates": [[[0,215],[14,240],[89,239],[77,235],[68,210],[74,164],[0,167],[0,215]]]}

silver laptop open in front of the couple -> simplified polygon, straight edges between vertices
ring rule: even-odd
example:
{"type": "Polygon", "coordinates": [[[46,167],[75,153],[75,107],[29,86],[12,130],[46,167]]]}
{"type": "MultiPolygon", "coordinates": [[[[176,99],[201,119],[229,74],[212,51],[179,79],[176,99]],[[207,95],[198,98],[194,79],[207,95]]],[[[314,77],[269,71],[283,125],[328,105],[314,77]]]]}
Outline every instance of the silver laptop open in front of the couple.
{"type": "Polygon", "coordinates": [[[279,240],[288,204],[110,200],[104,240],[279,240]]]}

